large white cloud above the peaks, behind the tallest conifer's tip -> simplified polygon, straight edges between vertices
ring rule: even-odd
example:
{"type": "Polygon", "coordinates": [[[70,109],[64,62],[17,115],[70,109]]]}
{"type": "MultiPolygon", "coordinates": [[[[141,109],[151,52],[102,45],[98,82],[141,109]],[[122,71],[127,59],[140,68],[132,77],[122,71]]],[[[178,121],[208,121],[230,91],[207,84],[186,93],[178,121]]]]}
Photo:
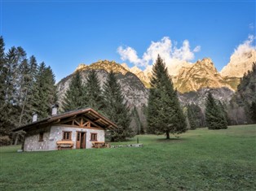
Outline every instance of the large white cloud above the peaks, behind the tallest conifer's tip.
{"type": "Polygon", "coordinates": [[[130,46],[126,48],[119,46],[117,52],[121,55],[123,61],[127,60],[138,67],[147,67],[155,62],[158,54],[161,55],[161,58],[165,60],[168,66],[183,61],[190,61],[194,59],[194,53],[200,50],[201,46],[196,46],[191,50],[188,40],[183,41],[183,45],[178,47],[176,42],[173,45],[170,37],[163,37],[161,41],[152,41],[141,59],[139,59],[136,50],[130,46]]]}

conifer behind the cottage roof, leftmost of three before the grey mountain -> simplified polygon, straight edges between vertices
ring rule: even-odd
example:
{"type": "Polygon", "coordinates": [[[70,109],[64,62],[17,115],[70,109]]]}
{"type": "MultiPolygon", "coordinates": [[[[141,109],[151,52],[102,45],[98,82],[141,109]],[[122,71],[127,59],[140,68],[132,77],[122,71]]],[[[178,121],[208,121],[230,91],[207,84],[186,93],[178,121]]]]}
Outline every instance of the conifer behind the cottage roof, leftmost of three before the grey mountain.
{"type": "Polygon", "coordinates": [[[64,100],[62,102],[63,111],[73,111],[86,106],[85,91],[86,89],[84,85],[82,85],[81,74],[76,72],[64,95],[64,100]]]}

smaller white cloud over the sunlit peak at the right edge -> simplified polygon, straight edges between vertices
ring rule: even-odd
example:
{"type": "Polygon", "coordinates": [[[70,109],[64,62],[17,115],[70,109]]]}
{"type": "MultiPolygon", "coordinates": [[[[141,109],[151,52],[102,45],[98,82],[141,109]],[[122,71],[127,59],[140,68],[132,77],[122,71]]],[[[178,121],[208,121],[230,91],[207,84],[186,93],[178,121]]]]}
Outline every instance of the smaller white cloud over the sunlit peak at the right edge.
{"type": "Polygon", "coordinates": [[[243,54],[248,53],[250,50],[255,50],[256,46],[254,45],[254,40],[254,35],[249,35],[246,41],[244,41],[241,45],[237,46],[232,56],[241,57],[243,54]]]}

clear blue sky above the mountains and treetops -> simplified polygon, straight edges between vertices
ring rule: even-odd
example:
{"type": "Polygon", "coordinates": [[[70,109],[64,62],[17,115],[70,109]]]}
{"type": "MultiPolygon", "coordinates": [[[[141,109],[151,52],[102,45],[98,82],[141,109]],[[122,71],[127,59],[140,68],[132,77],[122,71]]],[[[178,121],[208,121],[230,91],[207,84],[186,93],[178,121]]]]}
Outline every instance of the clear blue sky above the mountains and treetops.
{"type": "Polygon", "coordinates": [[[255,35],[255,7],[255,1],[2,0],[1,35],[7,49],[22,46],[50,65],[56,80],[99,59],[132,67],[118,47],[130,47],[142,59],[152,41],[164,37],[177,49],[187,40],[190,62],[210,57],[220,71],[236,47],[255,35]]]}

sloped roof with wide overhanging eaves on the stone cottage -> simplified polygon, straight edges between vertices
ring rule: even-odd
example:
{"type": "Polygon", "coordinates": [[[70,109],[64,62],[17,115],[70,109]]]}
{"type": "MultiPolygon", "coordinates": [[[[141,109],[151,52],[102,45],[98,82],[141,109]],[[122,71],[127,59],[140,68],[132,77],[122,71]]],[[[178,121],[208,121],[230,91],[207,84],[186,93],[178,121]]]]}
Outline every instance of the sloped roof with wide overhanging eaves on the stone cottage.
{"type": "Polygon", "coordinates": [[[51,124],[60,124],[61,121],[66,119],[73,119],[75,117],[82,117],[85,116],[87,119],[89,119],[94,124],[98,125],[101,128],[106,129],[115,129],[118,128],[117,124],[114,124],[111,120],[104,117],[104,115],[99,114],[97,111],[91,109],[91,108],[85,108],[82,110],[77,111],[68,111],[64,114],[60,115],[52,115],[46,119],[35,121],[31,124],[25,124],[23,126],[20,126],[19,128],[15,128],[13,132],[17,132],[20,130],[29,130],[30,128],[40,128],[40,127],[46,127],[51,124]]]}

